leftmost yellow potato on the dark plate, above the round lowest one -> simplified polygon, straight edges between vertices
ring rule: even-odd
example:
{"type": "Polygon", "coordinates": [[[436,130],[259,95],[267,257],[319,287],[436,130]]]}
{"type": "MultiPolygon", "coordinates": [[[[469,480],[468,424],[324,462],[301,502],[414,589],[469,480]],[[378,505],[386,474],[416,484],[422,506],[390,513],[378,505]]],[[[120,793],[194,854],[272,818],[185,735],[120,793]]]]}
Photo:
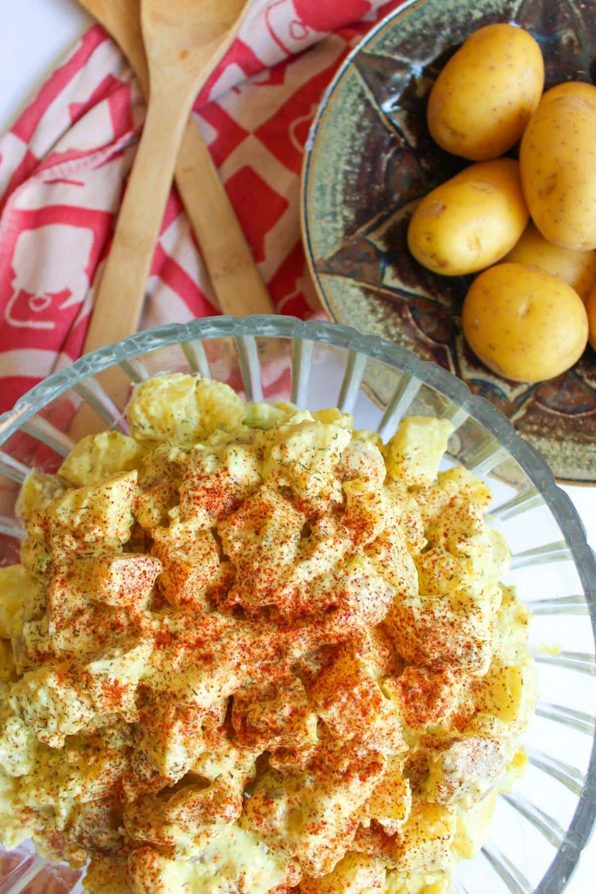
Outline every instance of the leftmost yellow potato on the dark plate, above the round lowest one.
{"type": "Polygon", "coordinates": [[[424,196],[407,228],[416,260],[459,276],[494,264],[524,232],[528,209],[513,158],[470,164],[424,196]]]}

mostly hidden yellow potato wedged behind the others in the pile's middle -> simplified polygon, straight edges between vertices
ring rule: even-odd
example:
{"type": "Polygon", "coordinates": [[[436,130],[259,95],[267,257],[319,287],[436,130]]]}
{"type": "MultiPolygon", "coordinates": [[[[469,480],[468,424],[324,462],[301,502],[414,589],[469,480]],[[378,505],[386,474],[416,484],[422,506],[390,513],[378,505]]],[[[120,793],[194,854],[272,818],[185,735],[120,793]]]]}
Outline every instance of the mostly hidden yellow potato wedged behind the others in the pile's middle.
{"type": "Polygon", "coordinates": [[[596,251],[561,249],[545,240],[532,221],[526,226],[522,238],[503,258],[504,263],[507,261],[538,267],[545,274],[559,276],[583,301],[596,283],[596,251]]]}

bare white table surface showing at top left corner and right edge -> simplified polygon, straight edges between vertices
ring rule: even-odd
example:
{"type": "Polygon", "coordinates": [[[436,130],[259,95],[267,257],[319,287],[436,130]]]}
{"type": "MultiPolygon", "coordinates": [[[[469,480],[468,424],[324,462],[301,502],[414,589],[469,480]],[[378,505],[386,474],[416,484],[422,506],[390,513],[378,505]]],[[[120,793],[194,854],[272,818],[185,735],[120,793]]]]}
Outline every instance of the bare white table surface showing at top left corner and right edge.
{"type": "MultiPolygon", "coordinates": [[[[61,55],[92,21],[74,0],[2,0],[2,7],[0,133],[11,126],[61,55]]],[[[565,490],[583,519],[588,541],[596,548],[596,488],[565,490]]],[[[596,890],[595,878],[596,836],[583,852],[568,894],[596,890]]]]}

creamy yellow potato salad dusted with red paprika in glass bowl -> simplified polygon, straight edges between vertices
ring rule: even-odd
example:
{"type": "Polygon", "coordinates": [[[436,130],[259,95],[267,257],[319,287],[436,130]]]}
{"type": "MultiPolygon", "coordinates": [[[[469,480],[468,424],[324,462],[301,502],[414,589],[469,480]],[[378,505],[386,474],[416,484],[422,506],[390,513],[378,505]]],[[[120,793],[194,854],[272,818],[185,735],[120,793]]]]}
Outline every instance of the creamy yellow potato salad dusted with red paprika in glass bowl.
{"type": "Polygon", "coordinates": [[[18,503],[0,836],[92,894],[448,894],[525,757],[529,611],[491,492],[337,409],[140,384],[18,503]]]}

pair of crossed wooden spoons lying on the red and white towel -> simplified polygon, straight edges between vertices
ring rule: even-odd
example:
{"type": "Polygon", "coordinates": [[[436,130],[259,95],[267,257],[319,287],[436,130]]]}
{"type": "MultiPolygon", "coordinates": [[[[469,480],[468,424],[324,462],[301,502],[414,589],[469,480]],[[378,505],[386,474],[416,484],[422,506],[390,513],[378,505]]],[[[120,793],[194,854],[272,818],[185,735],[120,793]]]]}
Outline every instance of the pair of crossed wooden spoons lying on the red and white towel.
{"type": "Polygon", "coordinates": [[[189,120],[202,82],[239,29],[244,0],[80,3],[122,46],[142,89],[147,93],[149,81],[151,87],[145,128],[97,291],[84,353],[118,342],[137,329],[174,165],[180,196],[222,311],[236,316],[272,313],[273,303],[210,153],[197,125],[189,120]]]}

